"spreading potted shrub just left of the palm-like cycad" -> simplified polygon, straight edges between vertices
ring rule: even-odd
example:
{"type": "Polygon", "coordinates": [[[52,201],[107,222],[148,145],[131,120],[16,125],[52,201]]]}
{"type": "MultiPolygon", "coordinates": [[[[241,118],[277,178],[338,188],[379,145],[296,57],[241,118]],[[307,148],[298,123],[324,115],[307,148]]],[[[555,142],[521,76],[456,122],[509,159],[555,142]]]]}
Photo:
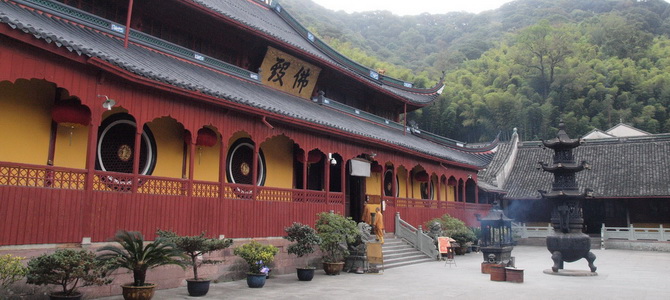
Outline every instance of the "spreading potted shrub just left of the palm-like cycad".
{"type": "Polygon", "coordinates": [[[51,292],[50,299],[81,299],[77,287],[110,283],[108,269],[91,251],[61,249],[31,259],[26,277],[29,284],[59,285],[60,291],[51,292]]]}

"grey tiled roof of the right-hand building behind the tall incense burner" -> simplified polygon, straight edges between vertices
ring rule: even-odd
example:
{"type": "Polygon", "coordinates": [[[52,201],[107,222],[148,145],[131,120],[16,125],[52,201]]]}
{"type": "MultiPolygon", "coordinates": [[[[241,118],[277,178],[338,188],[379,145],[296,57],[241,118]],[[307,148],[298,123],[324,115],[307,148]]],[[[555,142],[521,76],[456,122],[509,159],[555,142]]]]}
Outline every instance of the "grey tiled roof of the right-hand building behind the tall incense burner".
{"type": "MultiPolygon", "coordinates": [[[[503,187],[505,198],[539,199],[537,190],[550,191],[553,176],[538,169],[538,162],[551,163],[552,156],[539,142],[523,143],[503,187]]],[[[591,170],[577,173],[577,182],[582,190],[592,189],[596,198],[670,196],[670,135],[587,140],[574,156],[591,164],[591,170]]]]}

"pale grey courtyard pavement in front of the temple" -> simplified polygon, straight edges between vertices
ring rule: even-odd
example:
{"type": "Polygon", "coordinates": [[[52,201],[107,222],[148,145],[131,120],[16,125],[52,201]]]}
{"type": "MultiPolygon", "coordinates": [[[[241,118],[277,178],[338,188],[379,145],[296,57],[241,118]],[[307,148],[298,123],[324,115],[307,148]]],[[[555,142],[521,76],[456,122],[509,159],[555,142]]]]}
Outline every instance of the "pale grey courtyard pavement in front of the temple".
{"type": "MultiPolygon", "coordinates": [[[[517,246],[516,266],[523,283],[491,281],[482,274],[481,253],[456,256],[456,265],[427,262],[386,270],[383,274],[325,275],[310,282],[295,274],[273,275],[263,288],[245,280],[213,283],[204,297],[189,297],[186,287],[158,290],[156,300],[175,299],[670,299],[670,253],[593,250],[598,276],[544,274],[553,264],[545,247],[517,246]]],[[[566,270],[588,270],[586,260],[566,263],[566,270]]],[[[122,300],[121,296],[100,298],[122,300]]]]}

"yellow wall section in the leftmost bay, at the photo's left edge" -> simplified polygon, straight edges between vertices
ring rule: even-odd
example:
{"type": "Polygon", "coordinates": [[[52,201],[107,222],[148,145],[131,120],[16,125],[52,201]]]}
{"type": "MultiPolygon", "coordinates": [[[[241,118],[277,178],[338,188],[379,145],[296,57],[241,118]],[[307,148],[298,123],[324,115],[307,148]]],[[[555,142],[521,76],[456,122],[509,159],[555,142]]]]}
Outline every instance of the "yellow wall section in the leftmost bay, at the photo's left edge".
{"type": "Polygon", "coordinates": [[[0,82],[0,161],[46,165],[55,85],[0,82]]]}

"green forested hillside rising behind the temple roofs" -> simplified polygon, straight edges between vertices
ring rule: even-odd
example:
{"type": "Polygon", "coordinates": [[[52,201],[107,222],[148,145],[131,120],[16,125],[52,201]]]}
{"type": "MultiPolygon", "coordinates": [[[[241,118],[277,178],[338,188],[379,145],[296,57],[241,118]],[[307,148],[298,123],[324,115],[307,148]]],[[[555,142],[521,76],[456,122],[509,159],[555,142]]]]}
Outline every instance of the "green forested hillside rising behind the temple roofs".
{"type": "Polygon", "coordinates": [[[446,88],[408,119],[450,138],[490,141],[517,127],[549,138],[620,121],[670,132],[670,4],[662,0],[518,0],[480,14],[347,14],[280,0],[350,58],[446,88]]]}

